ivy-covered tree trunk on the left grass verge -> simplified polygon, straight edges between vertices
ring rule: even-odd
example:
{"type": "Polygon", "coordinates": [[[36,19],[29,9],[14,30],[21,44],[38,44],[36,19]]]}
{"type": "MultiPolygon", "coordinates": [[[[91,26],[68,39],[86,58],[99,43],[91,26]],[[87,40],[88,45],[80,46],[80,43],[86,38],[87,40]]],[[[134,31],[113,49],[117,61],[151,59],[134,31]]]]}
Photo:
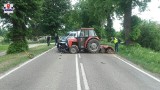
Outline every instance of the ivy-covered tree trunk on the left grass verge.
{"type": "Polygon", "coordinates": [[[12,43],[9,45],[7,53],[19,53],[22,51],[28,50],[28,43],[26,40],[26,26],[25,26],[25,18],[16,12],[17,17],[22,18],[12,19],[13,28],[10,31],[10,39],[12,43]]]}

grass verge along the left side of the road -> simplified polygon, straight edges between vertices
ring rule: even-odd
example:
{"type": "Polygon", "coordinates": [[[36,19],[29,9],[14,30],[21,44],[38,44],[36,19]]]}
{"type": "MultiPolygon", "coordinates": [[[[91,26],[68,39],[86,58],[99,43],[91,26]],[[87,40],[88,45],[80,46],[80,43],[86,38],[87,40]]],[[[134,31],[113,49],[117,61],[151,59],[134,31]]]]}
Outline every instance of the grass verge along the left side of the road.
{"type": "MultiPolygon", "coordinates": [[[[29,53],[34,54],[34,56],[41,54],[49,49],[51,49],[53,45],[49,47],[46,45],[40,45],[34,48],[30,48],[29,53]]],[[[17,54],[8,54],[0,57],[0,73],[3,73],[11,68],[16,67],[17,65],[28,61],[29,58],[25,52],[17,53],[17,54]]]]}

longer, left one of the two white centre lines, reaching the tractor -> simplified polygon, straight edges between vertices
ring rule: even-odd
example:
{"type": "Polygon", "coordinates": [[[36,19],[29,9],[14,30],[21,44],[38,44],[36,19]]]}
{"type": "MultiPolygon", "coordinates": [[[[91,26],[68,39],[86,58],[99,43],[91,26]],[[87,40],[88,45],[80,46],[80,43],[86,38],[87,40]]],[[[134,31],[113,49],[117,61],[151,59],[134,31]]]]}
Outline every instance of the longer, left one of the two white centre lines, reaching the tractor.
{"type": "Polygon", "coordinates": [[[78,66],[78,56],[76,54],[76,77],[77,77],[77,90],[81,90],[81,82],[80,82],[80,75],[79,75],[79,66],[78,66]]]}

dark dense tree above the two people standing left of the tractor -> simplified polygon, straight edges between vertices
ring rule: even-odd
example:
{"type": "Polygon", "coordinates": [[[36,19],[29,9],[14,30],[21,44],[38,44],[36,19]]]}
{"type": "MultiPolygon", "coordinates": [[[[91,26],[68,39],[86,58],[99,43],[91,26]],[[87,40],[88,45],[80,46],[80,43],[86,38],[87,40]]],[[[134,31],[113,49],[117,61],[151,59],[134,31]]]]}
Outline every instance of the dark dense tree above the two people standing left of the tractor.
{"type": "Polygon", "coordinates": [[[44,0],[42,28],[46,34],[55,35],[63,25],[63,17],[69,11],[69,0],[44,0]]]}

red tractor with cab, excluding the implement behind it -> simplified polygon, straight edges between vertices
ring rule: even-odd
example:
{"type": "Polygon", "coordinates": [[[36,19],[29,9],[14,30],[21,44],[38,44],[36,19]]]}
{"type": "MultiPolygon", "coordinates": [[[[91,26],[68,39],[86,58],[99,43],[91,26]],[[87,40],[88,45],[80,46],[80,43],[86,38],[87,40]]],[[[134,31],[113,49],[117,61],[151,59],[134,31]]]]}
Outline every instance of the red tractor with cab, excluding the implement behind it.
{"type": "Polygon", "coordinates": [[[68,47],[70,53],[77,53],[81,50],[97,53],[100,50],[99,38],[94,28],[81,28],[76,38],[68,39],[68,47]]]}

